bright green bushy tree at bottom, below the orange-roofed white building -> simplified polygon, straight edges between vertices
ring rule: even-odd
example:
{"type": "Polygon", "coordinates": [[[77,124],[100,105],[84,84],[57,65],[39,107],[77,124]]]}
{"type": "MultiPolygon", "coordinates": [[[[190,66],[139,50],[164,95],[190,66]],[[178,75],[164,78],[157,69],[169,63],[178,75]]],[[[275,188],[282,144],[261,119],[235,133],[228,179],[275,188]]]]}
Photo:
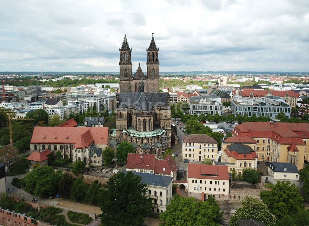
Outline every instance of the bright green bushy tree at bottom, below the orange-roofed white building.
{"type": "Polygon", "coordinates": [[[208,225],[219,226],[222,212],[213,197],[207,201],[195,201],[194,197],[180,197],[175,194],[166,211],[159,215],[160,226],[167,225],[208,225]]]}

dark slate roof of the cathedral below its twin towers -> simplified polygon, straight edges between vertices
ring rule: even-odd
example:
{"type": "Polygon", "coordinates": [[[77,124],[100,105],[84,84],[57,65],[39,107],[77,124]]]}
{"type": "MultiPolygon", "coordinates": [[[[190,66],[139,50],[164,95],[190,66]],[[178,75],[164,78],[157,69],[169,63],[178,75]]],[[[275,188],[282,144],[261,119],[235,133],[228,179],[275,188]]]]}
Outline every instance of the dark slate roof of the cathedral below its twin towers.
{"type": "Polygon", "coordinates": [[[137,109],[148,109],[153,106],[168,106],[168,93],[117,93],[119,104],[117,107],[134,106],[137,109]],[[144,96],[144,97],[142,97],[144,96]],[[139,99],[141,101],[139,101],[139,99]],[[146,102],[142,102],[142,101],[146,102]],[[151,106],[150,106],[151,103],[151,106]],[[145,105],[145,106],[141,106],[145,105]],[[147,105],[147,106],[146,106],[147,105]],[[147,107],[147,108],[146,108],[147,107]]]}

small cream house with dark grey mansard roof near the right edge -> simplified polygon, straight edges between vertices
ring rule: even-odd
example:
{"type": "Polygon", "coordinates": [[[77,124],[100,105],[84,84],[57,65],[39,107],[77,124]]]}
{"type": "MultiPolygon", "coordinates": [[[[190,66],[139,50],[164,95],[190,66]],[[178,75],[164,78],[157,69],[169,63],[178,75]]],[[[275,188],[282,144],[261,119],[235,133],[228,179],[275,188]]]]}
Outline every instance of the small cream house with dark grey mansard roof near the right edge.
{"type": "Polygon", "coordinates": [[[268,166],[267,181],[276,184],[277,181],[299,182],[299,170],[292,163],[271,162],[268,166]]]}

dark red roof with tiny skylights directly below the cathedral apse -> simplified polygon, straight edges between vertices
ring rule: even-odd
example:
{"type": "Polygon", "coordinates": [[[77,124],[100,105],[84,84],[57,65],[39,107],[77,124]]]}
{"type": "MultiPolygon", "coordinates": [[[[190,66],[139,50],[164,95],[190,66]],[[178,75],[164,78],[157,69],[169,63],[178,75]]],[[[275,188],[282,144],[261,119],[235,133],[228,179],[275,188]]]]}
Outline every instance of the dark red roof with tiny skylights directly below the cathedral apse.
{"type": "Polygon", "coordinates": [[[155,169],[154,154],[129,153],[127,158],[127,169],[155,169]]]}

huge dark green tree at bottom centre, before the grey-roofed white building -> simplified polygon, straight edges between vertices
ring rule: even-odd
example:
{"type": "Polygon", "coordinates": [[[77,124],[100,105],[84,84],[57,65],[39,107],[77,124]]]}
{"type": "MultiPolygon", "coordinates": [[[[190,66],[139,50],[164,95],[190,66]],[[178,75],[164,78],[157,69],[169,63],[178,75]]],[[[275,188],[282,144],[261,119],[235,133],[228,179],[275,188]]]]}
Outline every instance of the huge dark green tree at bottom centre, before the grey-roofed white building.
{"type": "Polygon", "coordinates": [[[148,188],[141,177],[128,171],[112,176],[102,190],[99,215],[104,225],[142,225],[151,212],[152,199],[147,197],[148,188]]]}

